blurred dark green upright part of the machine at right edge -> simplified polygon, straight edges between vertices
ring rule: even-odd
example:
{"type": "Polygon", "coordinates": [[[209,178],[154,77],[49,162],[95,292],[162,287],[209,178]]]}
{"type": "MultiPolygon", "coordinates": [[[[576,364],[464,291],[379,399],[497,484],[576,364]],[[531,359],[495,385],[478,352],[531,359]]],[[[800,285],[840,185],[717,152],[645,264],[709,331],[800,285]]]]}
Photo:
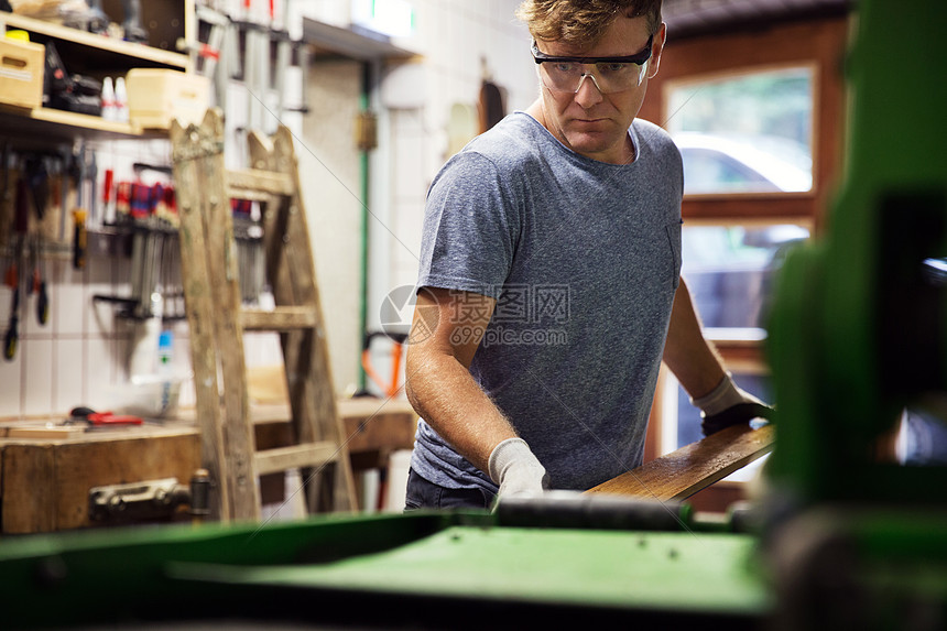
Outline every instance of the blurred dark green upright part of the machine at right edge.
{"type": "Polygon", "coordinates": [[[947,4],[856,8],[843,184],[770,324],[764,558],[790,628],[944,629],[947,468],[885,444],[905,409],[947,422],[947,4]]]}

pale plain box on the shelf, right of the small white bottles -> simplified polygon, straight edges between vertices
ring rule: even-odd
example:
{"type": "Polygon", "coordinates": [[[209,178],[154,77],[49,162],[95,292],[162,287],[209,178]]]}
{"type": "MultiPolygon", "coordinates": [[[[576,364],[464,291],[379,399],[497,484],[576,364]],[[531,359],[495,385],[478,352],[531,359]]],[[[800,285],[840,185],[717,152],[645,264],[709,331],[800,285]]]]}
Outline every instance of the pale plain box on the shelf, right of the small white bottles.
{"type": "Polygon", "coordinates": [[[175,118],[182,124],[200,123],[207,111],[210,81],[179,70],[132,68],[126,76],[129,119],[142,129],[170,129],[175,118]]]}

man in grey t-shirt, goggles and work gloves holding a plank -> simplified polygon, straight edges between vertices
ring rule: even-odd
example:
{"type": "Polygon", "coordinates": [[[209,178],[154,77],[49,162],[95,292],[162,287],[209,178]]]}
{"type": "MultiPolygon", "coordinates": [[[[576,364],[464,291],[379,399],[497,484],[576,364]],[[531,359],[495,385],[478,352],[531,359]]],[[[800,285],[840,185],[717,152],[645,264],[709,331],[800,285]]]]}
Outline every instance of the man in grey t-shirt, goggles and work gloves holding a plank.
{"type": "Polygon", "coordinates": [[[407,508],[584,490],[636,467],[662,358],[706,431],[761,407],[679,282],[681,155],[635,119],[664,47],[661,0],[527,0],[519,14],[538,98],[428,193],[407,508]]]}

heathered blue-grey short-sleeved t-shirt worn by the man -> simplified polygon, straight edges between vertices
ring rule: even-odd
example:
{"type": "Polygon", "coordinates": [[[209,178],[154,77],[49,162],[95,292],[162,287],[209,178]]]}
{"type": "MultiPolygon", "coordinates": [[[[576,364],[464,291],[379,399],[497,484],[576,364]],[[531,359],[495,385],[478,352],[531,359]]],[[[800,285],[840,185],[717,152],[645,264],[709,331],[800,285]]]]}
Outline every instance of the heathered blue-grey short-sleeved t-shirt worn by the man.
{"type": "MultiPolygon", "coordinates": [[[[428,192],[417,286],[498,301],[470,372],[555,489],[641,464],[678,284],[681,154],[650,122],[629,132],[634,162],[608,164],[515,112],[428,192]]],[[[476,304],[455,313],[461,325],[465,309],[476,304]]],[[[412,467],[444,487],[497,491],[423,420],[412,467]]]]}

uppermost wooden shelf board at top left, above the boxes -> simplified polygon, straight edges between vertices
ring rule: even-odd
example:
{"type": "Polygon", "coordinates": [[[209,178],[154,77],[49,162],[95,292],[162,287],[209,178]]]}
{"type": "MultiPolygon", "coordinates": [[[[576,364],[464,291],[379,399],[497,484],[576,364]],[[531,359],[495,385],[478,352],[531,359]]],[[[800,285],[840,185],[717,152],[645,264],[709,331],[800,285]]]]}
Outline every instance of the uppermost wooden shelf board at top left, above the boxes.
{"type": "MultiPolygon", "coordinates": [[[[57,47],[59,47],[62,42],[66,47],[68,47],[69,44],[75,44],[85,48],[91,48],[91,51],[85,51],[86,55],[98,51],[100,55],[94,56],[101,57],[101,54],[105,54],[108,56],[127,57],[128,59],[140,62],[130,63],[128,59],[124,59],[123,63],[121,63],[124,67],[148,66],[170,67],[182,70],[191,69],[191,57],[187,55],[161,48],[153,48],[142,44],[123,42],[121,40],[112,40],[102,35],[79,31],[78,29],[69,29],[68,26],[63,26],[53,22],[45,22],[43,20],[24,18],[23,15],[17,15],[13,13],[0,12],[0,25],[6,25],[7,29],[21,29],[23,31],[29,31],[31,34],[39,35],[40,40],[43,40],[43,43],[47,40],[53,40],[56,42],[57,47]]],[[[67,58],[67,53],[63,50],[59,51],[59,54],[63,56],[63,59],[67,65],[69,62],[74,61],[72,58],[67,58]]],[[[73,70],[73,68],[69,69],[72,72],[76,72],[73,70]]]]}

